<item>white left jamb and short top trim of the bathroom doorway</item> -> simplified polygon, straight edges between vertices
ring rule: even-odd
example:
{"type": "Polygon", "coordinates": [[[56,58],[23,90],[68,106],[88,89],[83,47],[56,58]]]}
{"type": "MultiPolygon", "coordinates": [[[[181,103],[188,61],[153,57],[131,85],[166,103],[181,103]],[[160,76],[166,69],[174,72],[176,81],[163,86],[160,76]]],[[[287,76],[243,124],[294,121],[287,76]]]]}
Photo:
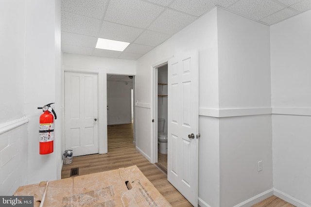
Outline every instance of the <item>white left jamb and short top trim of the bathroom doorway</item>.
{"type": "Polygon", "coordinates": [[[157,96],[157,74],[158,74],[158,68],[168,64],[168,60],[173,57],[167,58],[163,61],[160,61],[156,64],[152,64],[151,66],[151,117],[154,120],[154,122],[151,122],[151,163],[156,163],[157,162],[157,101],[158,101],[158,96],[157,96]]]}

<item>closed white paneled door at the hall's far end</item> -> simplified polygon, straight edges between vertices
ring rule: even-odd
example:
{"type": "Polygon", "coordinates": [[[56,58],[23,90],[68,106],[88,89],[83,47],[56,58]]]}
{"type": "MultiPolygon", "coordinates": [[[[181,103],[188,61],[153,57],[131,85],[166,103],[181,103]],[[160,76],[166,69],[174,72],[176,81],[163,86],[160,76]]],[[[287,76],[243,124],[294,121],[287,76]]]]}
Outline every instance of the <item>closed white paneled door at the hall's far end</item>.
{"type": "Polygon", "coordinates": [[[97,74],[65,72],[65,148],[73,156],[98,153],[97,74]]]}

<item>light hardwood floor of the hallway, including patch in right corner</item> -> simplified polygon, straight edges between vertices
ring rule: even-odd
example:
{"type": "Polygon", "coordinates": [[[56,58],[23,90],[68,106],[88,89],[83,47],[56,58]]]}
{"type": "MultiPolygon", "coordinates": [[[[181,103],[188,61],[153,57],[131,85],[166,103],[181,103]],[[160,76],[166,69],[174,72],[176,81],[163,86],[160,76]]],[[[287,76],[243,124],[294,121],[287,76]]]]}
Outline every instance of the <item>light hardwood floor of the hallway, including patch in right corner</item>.
{"type": "MultiPolygon", "coordinates": [[[[73,152],[74,153],[74,152],[73,152]]],[[[63,165],[62,178],[70,176],[70,169],[79,167],[79,175],[115,170],[137,165],[155,188],[173,207],[192,205],[167,181],[167,176],[145,159],[133,144],[133,125],[108,126],[108,153],[74,157],[69,165],[63,165]]],[[[294,207],[272,196],[254,207],[294,207]]]]}

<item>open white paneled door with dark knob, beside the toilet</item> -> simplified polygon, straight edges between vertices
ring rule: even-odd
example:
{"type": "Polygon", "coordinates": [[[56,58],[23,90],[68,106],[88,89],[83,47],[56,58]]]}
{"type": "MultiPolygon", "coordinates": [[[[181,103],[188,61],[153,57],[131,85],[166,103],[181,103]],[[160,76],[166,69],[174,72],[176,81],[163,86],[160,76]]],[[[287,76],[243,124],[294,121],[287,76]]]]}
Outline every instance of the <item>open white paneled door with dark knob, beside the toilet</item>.
{"type": "Polygon", "coordinates": [[[196,51],[168,62],[168,180],[198,205],[199,87],[196,51]]]}

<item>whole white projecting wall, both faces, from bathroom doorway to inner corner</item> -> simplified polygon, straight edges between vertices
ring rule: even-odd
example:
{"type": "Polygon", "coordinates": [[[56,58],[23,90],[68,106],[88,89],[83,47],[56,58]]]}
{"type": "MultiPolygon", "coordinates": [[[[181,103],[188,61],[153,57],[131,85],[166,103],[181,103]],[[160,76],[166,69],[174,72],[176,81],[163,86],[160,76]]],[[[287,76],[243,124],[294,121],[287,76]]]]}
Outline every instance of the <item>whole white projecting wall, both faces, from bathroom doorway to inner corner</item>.
{"type": "MultiPolygon", "coordinates": [[[[150,66],[183,51],[199,51],[201,206],[229,207],[248,199],[258,202],[266,191],[272,193],[269,35],[268,26],[215,8],[138,60],[137,111],[146,111],[139,102],[150,103],[150,66]],[[250,149],[257,150],[250,153],[250,149]],[[240,153],[232,156],[230,152],[236,151],[240,153]],[[264,163],[260,173],[259,160],[264,163]],[[231,180],[245,177],[253,185],[245,184],[237,191],[231,180]]],[[[142,115],[139,119],[150,121],[142,115]]],[[[137,147],[150,157],[152,141],[140,128],[136,130],[137,147]]]]}

